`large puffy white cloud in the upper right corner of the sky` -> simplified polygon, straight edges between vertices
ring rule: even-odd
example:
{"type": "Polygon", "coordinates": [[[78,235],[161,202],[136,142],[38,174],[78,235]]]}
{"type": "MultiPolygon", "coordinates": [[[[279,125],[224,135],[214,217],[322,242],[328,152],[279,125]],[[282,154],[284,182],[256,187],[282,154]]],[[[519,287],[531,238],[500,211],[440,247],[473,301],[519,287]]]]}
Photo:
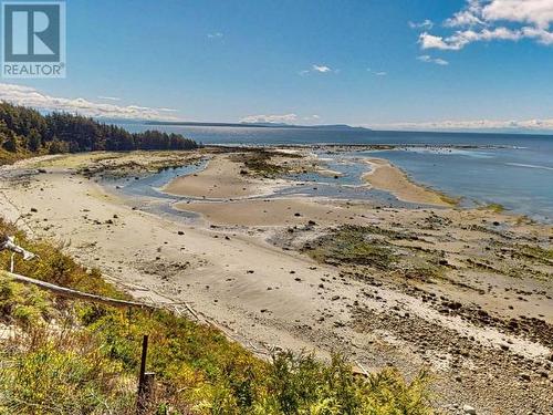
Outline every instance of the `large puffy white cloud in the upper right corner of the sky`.
{"type": "Polygon", "coordinates": [[[452,34],[419,35],[421,49],[458,51],[473,42],[532,39],[553,44],[553,0],[467,0],[466,7],[444,23],[452,34]]]}

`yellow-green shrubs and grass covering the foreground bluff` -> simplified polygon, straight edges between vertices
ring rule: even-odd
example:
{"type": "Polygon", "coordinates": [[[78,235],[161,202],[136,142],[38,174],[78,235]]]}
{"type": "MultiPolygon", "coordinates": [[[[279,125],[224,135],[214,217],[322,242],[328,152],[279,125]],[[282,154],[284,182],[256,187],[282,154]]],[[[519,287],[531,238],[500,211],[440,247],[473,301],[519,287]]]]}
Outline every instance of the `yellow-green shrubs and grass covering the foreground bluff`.
{"type": "MultiPolygon", "coordinates": [[[[17,271],[77,290],[125,298],[59,249],[0,220],[0,232],[40,255],[17,271]]],[[[10,261],[0,252],[0,268],[10,261]]],[[[354,375],[335,356],[275,354],[263,361],[218,330],[163,310],[63,300],[0,280],[0,414],[135,413],[140,339],[150,335],[157,376],[152,414],[430,414],[427,376],[393,369],[354,375]]]]}

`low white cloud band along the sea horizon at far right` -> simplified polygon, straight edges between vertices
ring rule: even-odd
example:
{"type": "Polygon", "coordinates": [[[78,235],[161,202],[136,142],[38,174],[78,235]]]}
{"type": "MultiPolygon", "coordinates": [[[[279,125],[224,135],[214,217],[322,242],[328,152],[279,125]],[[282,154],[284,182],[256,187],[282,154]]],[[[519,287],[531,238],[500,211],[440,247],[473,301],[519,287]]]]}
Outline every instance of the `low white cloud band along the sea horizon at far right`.
{"type": "Polygon", "coordinates": [[[547,120],[444,120],[422,123],[392,123],[373,124],[371,127],[379,129],[406,131],[553,131],[553,118],[547,120]]]}

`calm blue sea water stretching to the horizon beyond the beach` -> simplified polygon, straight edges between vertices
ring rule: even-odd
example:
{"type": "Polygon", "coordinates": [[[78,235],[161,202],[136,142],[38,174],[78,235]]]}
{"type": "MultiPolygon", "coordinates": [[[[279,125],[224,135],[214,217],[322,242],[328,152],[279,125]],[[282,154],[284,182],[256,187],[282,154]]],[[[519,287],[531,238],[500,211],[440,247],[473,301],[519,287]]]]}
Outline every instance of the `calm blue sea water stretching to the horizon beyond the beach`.
{"type": "MultiPolygon", "coordinates": [[[[154,128],[127,124],[129,131],[154,128]]],[[[155,126],[204,144],[394,144],[406,147],[380,152],[324,155],[333,167],[357,184],[363,156],[387,158],[415,180],[466,204],[501,204],[538,220],[553,221],[553,136],[514,134],[414,133],[304,128],[155,126]],[[431,146],[431,147],[428,147],[431,146]],[[476,146],[477,148],[445,148],[476,146]]]]}

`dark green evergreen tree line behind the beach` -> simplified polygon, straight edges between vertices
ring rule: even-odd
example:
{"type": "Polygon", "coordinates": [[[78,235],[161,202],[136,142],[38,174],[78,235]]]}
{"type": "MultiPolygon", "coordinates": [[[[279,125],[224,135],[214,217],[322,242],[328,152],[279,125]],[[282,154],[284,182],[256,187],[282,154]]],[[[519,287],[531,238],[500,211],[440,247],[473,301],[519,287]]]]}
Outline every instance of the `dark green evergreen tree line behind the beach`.
{"type": "Polygon", "coordinates": [[[198,144],[180,134],[129,133],[91,117],[54,112],[42,115],[25,106],[0,103],[0,147],[10,153],[80,153],[133,149],[192,149],[198,144]]]}

